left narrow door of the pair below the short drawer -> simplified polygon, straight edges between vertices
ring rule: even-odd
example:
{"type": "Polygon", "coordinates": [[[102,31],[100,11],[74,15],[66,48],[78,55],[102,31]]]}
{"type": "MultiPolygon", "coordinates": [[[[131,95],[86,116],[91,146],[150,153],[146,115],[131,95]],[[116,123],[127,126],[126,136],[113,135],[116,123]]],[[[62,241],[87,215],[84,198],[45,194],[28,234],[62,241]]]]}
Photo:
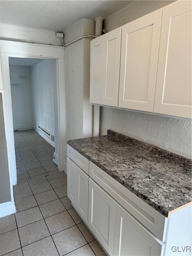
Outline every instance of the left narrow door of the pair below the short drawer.
{"type": "Polygon", "coordinates": [[[67,157],[67,196],[74,206],[77,205],[77,165],[67,157]]]}

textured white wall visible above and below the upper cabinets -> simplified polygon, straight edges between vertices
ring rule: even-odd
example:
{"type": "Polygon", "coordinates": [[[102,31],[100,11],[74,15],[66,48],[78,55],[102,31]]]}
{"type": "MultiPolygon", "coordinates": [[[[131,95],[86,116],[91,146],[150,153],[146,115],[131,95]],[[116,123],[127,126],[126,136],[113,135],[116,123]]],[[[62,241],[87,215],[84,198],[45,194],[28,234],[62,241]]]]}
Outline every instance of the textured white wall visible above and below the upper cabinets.
{"type": "MultiPolygon", "coordinates": [[[[122,12],[110,15],[104,22],[108,31],[122,26],[171,1],[137,1],[122,12]]],[[[191,121],[101,107],[100,135],[107,129],[191,157],[191,121]]]]}

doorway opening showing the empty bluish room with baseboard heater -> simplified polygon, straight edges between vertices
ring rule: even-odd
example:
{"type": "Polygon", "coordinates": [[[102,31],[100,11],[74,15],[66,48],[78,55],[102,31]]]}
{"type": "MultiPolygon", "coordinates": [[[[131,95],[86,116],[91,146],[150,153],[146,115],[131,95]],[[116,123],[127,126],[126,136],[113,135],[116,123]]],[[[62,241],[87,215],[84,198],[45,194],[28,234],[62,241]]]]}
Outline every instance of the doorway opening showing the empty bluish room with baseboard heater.
{"type": "Polygon", "coordinates": [[[18,180],[57,169],[56,72],[55,59],[9,57],[18,180]]]}

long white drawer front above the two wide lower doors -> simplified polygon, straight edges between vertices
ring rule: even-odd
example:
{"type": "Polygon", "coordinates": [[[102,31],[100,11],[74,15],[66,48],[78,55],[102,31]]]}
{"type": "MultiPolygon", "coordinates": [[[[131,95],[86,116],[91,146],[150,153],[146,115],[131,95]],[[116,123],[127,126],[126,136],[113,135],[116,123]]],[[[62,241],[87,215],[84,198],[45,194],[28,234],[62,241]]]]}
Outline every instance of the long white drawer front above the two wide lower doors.
{"type": "Polygon", "coordinates": [[[89,161],[89,176],[161,241],[165,240],[167,218],[89,161]]]}

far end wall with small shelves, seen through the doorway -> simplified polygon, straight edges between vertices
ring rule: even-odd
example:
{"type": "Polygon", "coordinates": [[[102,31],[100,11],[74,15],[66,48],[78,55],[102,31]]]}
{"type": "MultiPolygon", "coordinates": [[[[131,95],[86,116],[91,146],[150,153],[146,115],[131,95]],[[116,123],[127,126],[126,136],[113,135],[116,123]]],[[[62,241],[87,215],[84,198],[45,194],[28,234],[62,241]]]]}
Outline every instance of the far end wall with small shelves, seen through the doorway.
{"type": "Polygon", "coordinates": [[[13,128],[33,128],[31,68],[25,66],[10,65],[9,72],[11,84],[13,128]],[[27,77],[27,79],[20,77],[27,77]],[[18,86],[14,86],[13,84],[18,84],[18,86]]]}

